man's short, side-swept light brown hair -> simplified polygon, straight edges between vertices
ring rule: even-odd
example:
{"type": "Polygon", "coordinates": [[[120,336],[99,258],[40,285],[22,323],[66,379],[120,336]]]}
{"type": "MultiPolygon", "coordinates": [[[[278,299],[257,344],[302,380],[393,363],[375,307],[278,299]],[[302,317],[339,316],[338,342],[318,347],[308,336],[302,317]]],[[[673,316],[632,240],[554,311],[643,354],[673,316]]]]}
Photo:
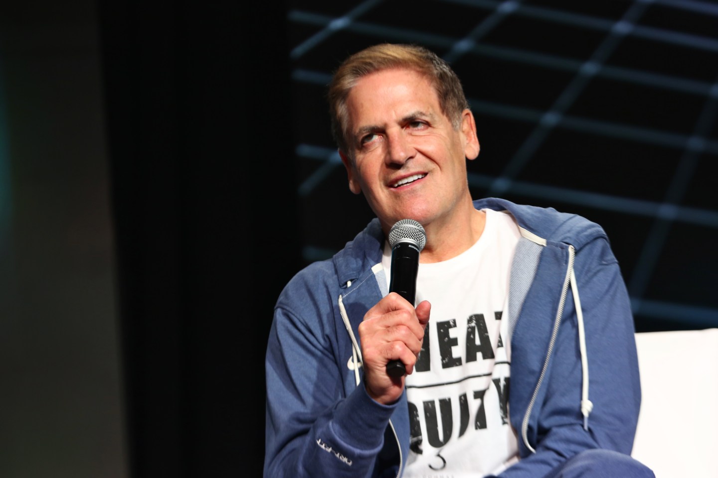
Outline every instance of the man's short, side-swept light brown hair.
{"type": "Polygon", "coordinates": [[[462,112],[469,107],[459,77],[449,64],[429,49],[414,44],[377,44],[357,52],[336,70],[327,92],[332,135],[340,150],[348,149],[347,98],[361,77],[392,68],[416,70],[426,75],[439,97],[442,113],[451,121],[454,129],[461,125],[462,112]]]}

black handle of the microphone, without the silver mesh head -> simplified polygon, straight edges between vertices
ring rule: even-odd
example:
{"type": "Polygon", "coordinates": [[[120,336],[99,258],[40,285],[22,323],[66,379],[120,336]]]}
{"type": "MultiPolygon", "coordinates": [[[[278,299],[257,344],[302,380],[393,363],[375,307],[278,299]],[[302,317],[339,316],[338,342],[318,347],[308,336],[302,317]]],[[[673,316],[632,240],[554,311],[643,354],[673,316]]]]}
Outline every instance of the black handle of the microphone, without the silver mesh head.
{"type": "MultiPolygon", "coordinates": [[[[419,272],[419,249],[411,242],[399,242],[391,250],[391,280],[389,292],[396,292],[414,305],[416,297],[416,274],[419,272]]],[[[406,375],[406,366],[401,360],[390,360],[386,364],[390,377],[406,375]]]]}

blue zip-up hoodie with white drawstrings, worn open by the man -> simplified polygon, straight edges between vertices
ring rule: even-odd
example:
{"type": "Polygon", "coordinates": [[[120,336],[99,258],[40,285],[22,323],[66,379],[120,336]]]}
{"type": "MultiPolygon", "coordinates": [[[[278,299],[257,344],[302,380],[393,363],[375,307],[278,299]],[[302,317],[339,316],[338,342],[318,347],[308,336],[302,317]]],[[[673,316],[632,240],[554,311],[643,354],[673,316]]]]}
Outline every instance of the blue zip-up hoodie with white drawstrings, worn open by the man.
{"type": "MultiPolygon", "coordinates": [[[[605,232],[554,209],[493,198],[474,206],[508,211],[521,231],[508,310],[521,459],[498,476],[544,476],[586,449],[630,454],[640,408],[635,330],[605,232]]],[[[406,392],[384,406],[361,383],[358,325],[387,293],[383,244],[374,219],[281,292],[266,353],[265,478],[401,476],[406,392]]]]}

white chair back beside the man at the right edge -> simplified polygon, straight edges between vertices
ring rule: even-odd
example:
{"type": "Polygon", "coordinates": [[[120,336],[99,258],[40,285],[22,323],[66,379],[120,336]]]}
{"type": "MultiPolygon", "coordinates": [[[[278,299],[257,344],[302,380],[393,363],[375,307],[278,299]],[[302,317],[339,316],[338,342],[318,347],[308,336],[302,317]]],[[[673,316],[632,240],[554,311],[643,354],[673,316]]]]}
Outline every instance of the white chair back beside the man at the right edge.
{"type": "Polygon", "coordinates": [[[718,328],[635,341],[643,400],[632,456],[656,478],[718,478],[718,328]]]}

